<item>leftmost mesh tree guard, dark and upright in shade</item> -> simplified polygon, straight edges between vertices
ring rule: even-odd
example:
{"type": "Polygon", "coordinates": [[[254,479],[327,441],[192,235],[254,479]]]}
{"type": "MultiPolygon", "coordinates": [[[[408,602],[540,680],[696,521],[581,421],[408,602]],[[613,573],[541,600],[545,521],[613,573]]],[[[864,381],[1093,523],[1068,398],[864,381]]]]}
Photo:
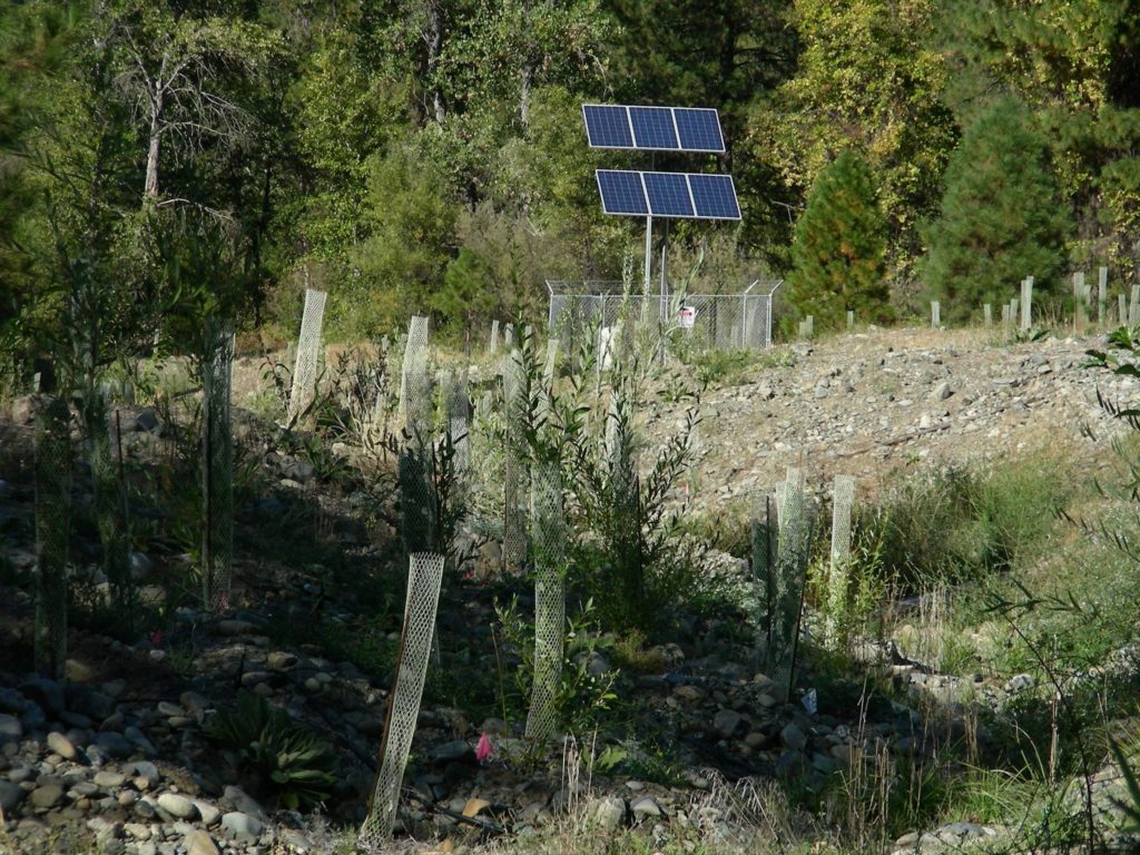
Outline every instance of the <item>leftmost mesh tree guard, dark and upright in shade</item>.
{"type": "Polygon", "coordinates": [[[71,539],[71,413],[52,398],[35,430],[35,669],[64,676],[67,659],[67,545],[71,539]]]}

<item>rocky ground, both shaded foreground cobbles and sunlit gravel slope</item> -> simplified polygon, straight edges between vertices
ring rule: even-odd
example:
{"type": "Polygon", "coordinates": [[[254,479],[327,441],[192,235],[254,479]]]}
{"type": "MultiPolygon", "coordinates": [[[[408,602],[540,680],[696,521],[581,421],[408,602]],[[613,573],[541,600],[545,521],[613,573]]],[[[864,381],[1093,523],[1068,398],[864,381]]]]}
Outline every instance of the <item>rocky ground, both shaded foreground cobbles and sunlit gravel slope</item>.
{"type": "MultiPolygon", "coordinates": [[[[708,455],[698,504],[712,510],[750,498],[790,465],[816,484],[837,472],[856,474],[862,495],[870,495],[894,470],[923,461],[1017,456],[1054,443],[1091,454],[1083,429],[1115,430],[1097,405],[1098,385],[1119,401],[1140,392],[1134,381],[1082,369],[1092,344],[1049,339],[997,347],[978,332],[898,331],[796,345],[783,360],[789,364],[706,393],[708,455]]],[[[44,679],[30,670],[33,404],[17,400],[0,422],[0,462],[8,469],[0,471],[0,549],[7,553],[0,561],[0,853],[334,850],[363,820],[391,681],[404,594],[384,522],[390,497],[372,496],[351,479],[326,489],[304,455],[267,440],[268,429],[252,416],[238,418],[258,489],[241,494],[236,508],[233,608],[212,616],[189,604],[193,592],[178,580],[190,556],[162,534],[164,510],[150,508],[152,536],[136,544],[132,567],[152,625],[122,637],[114,627],[75,621],[67,679],[44,679]],[[280,706],[337,752],[335,788],[318,817],[285,809],[270,787],[230,766],[206,736],[205,725],[241,689],[280,706]]],[[[649,426],[669,427],[681,412],[663,404],[649,426]]],[[[124,446],[149,462],[140,470],[172,453],[176,425],[150,409],[123,417],[124,446]]],[[[89,491],[81,471],[80,506],[89,491]]],[[[76,532],[72,555],[80,570],[95,564],[92,531],[76,532]]],[[[733,798],[725,781],[795,781],[822,791],[837,771],[921,765],[967,734],[975,754],[963,762],[984,762],[1000,748],[960,703],[962,685],[889,645],[868,658],[896,691],[808,669],[789,695],[756,670],[739,621],[725,616],[691,621],[675,641],[646,651],[640,669],[618,677],[614,691],[628,720],[569,752],[609,760],[581,760],[568,774],[567,752],[528,751],[516,710],[504,715],[499,703],[500,670],[512,660],[492,636],[494,598],[508,593],[510,586],[472,579],[445,585],[439,658],[406,776],[401,848],[412,847],[412,838],[424,841],[416,845],[424,852],[526,839],[570,812],[595,831],[635,826],[661,847],[691,850],[719,840],[751,850],[756,836],[769,831],[763,811],[733,798]],[[475,746],[484,734],[494,751],[480,762],[475,746]]],[[[612,658],[603,649],[587,666],[602,676],[612,658]]],[[[966,686],[991,700],[1024,687],[1004,679],[966,686]]],[[[1098,781],[1098,806],[1110,809],[1118,773],[1109,767],[1098,781]]],[[[960,822],[904,836],[893,848],[951,852],[1013,833],[960,822]]]]}

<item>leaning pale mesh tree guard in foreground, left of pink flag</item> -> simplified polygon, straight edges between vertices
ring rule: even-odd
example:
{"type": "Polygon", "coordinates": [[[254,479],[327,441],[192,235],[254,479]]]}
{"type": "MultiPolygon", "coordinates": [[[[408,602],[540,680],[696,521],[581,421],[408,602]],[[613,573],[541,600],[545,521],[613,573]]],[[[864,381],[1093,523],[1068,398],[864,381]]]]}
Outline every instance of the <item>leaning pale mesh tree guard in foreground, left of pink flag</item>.
{"type": "Polygon", "coordinates": [[[358,845],[368,852],[376,852],[384,845],[396,823],[400,784],[412,739],[415,736],[424,678],[427,675],[442,579],[442,555],[416,553],[408,559],[408,596],[404,606],[396,679],[389,695],[388,719],[380,743],[380,771],[376,773],[368,816],[357,838],[358,845]]]}

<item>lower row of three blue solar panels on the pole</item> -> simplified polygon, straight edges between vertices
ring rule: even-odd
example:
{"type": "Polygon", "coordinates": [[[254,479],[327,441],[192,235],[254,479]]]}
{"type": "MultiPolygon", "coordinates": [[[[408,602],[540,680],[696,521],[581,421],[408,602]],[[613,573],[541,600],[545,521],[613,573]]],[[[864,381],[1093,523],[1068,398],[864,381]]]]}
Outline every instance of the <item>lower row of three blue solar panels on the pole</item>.
{"type": "Polygon", "coordinates": [[[732,176],[600,169],[597,189],[608,214],[739,220],[732,176]]]}

